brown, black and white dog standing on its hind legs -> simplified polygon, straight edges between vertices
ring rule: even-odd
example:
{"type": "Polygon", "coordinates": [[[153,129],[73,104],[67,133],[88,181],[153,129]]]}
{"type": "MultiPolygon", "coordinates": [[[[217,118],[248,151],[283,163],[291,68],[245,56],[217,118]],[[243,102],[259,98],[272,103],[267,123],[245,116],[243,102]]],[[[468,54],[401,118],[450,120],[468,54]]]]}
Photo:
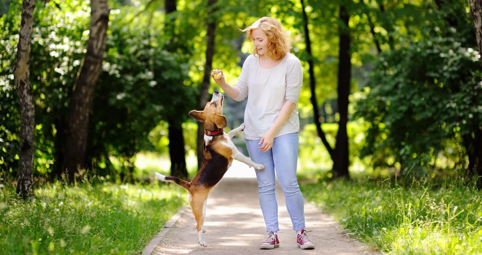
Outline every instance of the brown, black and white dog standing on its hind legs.
{"type": "Polygon", "coordinates": [[[224,174],[231,166],[233,159],[239,160],[255,170],[262,170],[264,165],[254,163],[251,159],[241,154],[231,139],[244,129],[244,123],[238,128],[232,129],[228,134],[226,117],[223,114],[224,96],[214,91],[211,101],[206,103],[203,111],[190,111],[189,115],[200,122],[204,122],[204,159],[198,173],[190,181],[184,181],[177,177],[165,176],[156,172],[161,181],[174,182],[188,191],[187,200],[196,219],[198,242],[206,247],[207,243],[202,238],[204,216],[206,214],[206,201],[208,194],[214,186],[221,181],[224,174]]]}

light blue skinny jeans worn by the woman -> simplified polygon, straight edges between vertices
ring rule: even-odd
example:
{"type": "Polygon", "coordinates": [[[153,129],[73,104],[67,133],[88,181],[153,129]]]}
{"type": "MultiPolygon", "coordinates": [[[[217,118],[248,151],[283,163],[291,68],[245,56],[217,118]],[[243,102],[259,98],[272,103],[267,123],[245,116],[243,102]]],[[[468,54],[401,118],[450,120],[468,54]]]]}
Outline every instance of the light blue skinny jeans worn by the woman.
{"type": "Polygon", "coordinates": [[[267,232],[279,231],[278,203],[274,193],[275,170],[281,190],[286,200],[286,209],[290,214],[291,223],[295,231],[305,229],[305,212],[303,195],[296,179],[296,164],[298,161],[298,133],[291,133],[276,137],[273,147],[267,152],[259,150],[260,140],[247,140],[251,160],[266,166],[264,170],[257,170],[259,204],[265,219],[267,232]]]}

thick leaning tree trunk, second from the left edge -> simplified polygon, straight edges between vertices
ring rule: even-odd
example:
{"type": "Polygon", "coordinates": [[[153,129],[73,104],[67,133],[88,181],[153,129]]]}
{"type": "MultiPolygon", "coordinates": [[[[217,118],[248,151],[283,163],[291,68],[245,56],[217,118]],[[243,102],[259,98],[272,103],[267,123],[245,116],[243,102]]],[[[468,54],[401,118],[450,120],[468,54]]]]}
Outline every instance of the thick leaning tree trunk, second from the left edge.
{"type": "Polygon", "coordinates": [[[67,169],[68,180],[74,181],[78,168],[85,168],[85,148],[89,112],[94,97],[95,85],[102,71],[102,60],[106,49],[109,7],[107,0],[91,0],[90,37],[87,52],[74,86],[65,145],[63,169],[67,169]]]}

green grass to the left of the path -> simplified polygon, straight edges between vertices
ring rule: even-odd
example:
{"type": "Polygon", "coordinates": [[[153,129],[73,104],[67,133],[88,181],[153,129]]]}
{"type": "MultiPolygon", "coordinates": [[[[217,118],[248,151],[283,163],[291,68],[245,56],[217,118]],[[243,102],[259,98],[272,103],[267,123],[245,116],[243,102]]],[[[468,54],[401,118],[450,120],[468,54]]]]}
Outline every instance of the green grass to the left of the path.
{"type": "Polygon", "coordinates": [[[22,201],[14,188],[0,189],[1,254],[139,254],[187,196],[174,184],[56,182],[22,201]]]}

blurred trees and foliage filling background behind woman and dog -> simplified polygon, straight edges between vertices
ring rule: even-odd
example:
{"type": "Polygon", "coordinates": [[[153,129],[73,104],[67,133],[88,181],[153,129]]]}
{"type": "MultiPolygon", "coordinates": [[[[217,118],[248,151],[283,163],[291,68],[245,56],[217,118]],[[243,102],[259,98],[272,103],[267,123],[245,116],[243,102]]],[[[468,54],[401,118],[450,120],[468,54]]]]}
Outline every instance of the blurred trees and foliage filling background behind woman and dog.
{"type": "MultiPolygon", "coordinates": [[[[110,0],[105,53],[77,174],[132,181],[140,156],[163,170],[197,169],[198,124],[188,118],[234,85],[251,43],[239,28],[282,22],[305,70],[299,101],[300,169],[345,177],[482,176],[481,59],[464,0],[110,0]],[[308,41],[309,35],[309,41],[308,41]],[[211,59],[210,55],[212,55],[211,59]],[[211,63],[209,63],[211,62],[211,63]],[[203,105],[204,103],[202,103],[203,105]],[[157,157],[157,156],[156,156],[157,157]]],[[[17,176],[20,108],[13,82],[21,2],[0,1],[0,167],[17,176]]],[[[73,100],[90,35],[90,1],[38,1],[30,82],[36,178],[62,177],[73,100]]],[[[226,100],[229,127],[243,104],[226,100]]],[[[237,140],[243,149],[243,141],[237,140]]],[[[147,174],[148,175],[148,174],[147,174]]],[[[480,183],[479,183],[480,185],[480,183]]]]}

